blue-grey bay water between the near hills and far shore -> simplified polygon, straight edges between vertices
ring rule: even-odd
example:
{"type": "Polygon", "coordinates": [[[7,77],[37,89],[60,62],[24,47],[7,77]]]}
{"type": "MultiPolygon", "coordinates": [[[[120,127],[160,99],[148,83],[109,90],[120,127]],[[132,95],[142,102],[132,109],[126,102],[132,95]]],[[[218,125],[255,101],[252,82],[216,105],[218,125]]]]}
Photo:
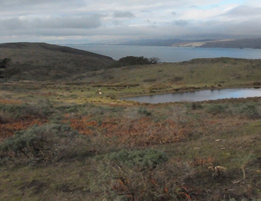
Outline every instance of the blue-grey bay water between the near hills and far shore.
{"type": "Polygon", "coordinates": [[[66,45],[80,50],[102,54],[118,60],[125,56],[157,57],[161,62],[180,62],[195,58],[245,58],[261,59],[261,49],[193,48],[159,46],[114,46],[114,45],[66,45]]]}

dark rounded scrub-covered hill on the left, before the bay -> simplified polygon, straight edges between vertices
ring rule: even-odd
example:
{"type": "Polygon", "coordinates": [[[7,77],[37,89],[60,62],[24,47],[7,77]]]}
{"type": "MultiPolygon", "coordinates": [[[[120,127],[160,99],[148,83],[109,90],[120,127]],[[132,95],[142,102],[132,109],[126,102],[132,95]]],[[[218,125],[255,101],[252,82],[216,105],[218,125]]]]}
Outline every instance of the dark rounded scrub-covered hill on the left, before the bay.
{"type": "Polygon", "coordinates": [[[0,59],[9,58],[9,79],[56,80],[107,68],[113,59],[74,48],[46,43],[0,44],[0,59]]]}

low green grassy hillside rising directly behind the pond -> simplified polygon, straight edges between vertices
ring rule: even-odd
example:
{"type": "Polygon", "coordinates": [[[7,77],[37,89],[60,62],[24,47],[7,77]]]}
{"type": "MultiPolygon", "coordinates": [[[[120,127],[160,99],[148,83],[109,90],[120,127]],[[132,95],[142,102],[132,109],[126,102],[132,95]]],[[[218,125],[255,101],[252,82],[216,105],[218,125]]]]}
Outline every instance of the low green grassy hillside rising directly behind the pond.
{"type": "Polygon", "coordinates": [[[184,87],[253,85],[261,81],[260,77],[261,60],[213,58],[112,68],[77,75],[73,79],[96,85],[136,85],[147,92],[164,92],[184,87]]]}

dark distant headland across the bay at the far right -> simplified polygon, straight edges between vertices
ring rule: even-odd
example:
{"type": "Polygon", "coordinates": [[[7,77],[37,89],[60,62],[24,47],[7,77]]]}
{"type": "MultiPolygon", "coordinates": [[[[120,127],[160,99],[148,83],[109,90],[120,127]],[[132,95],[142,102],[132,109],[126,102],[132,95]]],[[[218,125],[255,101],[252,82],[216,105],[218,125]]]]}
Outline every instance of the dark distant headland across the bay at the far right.
{"type": "Polygon", "coordinates": [[[207,42],[199,47],[216,47],[216,48],[261,48],[261,38],[224,40],[216,42],[207,42]]]}

